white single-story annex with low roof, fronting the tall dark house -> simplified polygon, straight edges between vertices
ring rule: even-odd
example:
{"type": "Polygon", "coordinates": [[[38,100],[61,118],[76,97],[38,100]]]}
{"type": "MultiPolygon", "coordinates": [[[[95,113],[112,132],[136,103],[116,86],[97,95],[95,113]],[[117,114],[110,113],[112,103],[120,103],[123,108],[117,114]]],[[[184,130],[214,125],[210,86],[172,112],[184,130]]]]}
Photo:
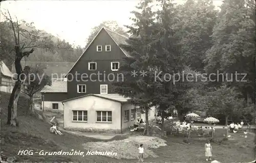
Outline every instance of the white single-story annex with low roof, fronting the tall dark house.
{"type": "MultiPolygon", "coordinates": [[[[118,94],[88,94],[62,101],[64,128],[67,130],[118,132],[132,126],[145,114],[118,94]]],[[[155,109],[148,113],[154,118],[155,109]]]]}

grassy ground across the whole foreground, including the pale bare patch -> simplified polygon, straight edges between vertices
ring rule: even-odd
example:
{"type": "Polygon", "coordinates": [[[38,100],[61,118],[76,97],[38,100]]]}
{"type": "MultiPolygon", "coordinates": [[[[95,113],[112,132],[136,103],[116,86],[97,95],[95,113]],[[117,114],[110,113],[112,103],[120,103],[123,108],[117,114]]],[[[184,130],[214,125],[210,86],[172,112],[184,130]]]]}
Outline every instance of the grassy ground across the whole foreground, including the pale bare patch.
{"type": "MultiPolygon", "coordinates": [[[[64,132],[65,135],[55,135],[49,132],[49,124],[37,118],[26,116],[27,99],[20,97],[18,101],[19,127],[14,128],[6,125],[7,105],[9,94],[2,93],[1,114],[1,138],[2,151],[6,157],[16,156],[17,161],[79,161],[79,162],[134,162],[137,161],[137,145],[145,144],[145,152],[151,157],[145,158],[145,162],[206,162],[204,157],[204,140],[193,139],[190,144],[184,143],[184,138],[170,137],[165,140],[159,139],[159,143],[166,144],[159,148],[152,148],[152,141],[147,137],[142,140],[134,135],[117,136],[111,140],[97,140],[94,138],[80,137],[64,132]],[[126,139],[126,140],[125,140],[126,139]],[[93,143],[97,142],[97,143],[93,143]],[[151,143],[148,143],[151,142],[151,143]],[[107,146],[109,145],[109,147],[107,146]],[[34,151],[71,151],[81,150],[87,152],[90,149],[113,150],[120,155],[129,155],[130,159],[117,159],[106,156],[17,156],[19,150],[34,151]],[[106,149],[108,147],[108,149],[106,149]],[[148,147],[148,148],[147,148],[148,147]],[[148,150],[148,151],[146,151],[148,150]]],[[[254,134],[247,134],[247,139],[242,137],[244,133],[231,133],[231,139],[223,144],[211,143],[213,158],[220,162],[248,162],[254,159],[254,134]]],[[[152,138],[152,137],[150,137],[152,138]]]]}

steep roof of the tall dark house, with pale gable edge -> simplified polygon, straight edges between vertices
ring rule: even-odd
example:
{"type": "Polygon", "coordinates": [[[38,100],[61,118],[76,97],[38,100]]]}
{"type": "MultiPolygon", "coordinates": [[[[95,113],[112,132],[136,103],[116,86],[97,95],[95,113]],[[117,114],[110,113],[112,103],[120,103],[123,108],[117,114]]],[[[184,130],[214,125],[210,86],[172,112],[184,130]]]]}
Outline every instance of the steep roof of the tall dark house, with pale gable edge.
{"type": "MultiPolygon", "coordinates": [[[[95,40],[95,38],[99,35],[99,33],[102,31],[102,30],[105,30],[106,33],[109,34],[109,36],[113,39],[113,41],[117,44],[117,46],[122,50],[122,52],[124,53],[124,55],[126,57],[130,57],[130,54],[129,52],[127,52],[126,50],[124,50],[123,48],[121,48],[119,45],[121,44],[127,44],[126,40],[129,39],[127,38],[126,36],[123,36],[121,34],[118,34],[116,32],[113,32],[107,28],[105,28],[104,26],[99,30],[99,32],[97,33],[97,35],[93,38],[93,40],[91,41],[91,43],[87,46],[87,48],[82,52],[82,55],[87,51],[87,49],[90,47],[90,45],[92,44],[92,42],[95,40]]],[[[80,58],[82,57],[82,55],[78,58],[78,60],[76,61],[76,63],[80,60],[80,58]]],[[[70,71],[73,69],[73,67],[76,65],[76,63],[71,67],[71,69],[68,71],[68,73],[70,73],[70,71]]],[[[68,74],[67,73],[67,74],[68,74]]]]}

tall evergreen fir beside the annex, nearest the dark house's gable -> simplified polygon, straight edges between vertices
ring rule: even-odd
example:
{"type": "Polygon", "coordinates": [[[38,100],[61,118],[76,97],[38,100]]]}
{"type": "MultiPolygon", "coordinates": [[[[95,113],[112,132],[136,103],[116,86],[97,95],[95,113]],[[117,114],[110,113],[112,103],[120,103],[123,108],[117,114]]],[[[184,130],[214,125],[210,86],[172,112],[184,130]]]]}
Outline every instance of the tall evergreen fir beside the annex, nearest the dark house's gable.
{"type": "MultiPolygon", "coordinates": [[[[154,41],[153,28],[154,16],[152,12],[152,0],[143,0],[136,7],[141,12],[133,11],[135,18],[132,18],[134,23],[131,26],[126,26],[130,29],[129,33],[132,37],[127,40],[129,45],[122,47],[131,53],[131,57],[125,58],[124,66],[120,67],[120,72],[124,75],[124,82],[115,83],[115,91],[125,97],[130,97],[133,105],[141,108],[145,112],[146,128],[148,128],[148,111],[153,106],[151,101],[150,78],[140,75],[140,72],[146,71],[150,56],[152,53],[152,42],[154,41]],[[134,77],[131,72],[137,72],[134,77]]],[[[147,134],[149,130],[147,129],[147,134]]]]}

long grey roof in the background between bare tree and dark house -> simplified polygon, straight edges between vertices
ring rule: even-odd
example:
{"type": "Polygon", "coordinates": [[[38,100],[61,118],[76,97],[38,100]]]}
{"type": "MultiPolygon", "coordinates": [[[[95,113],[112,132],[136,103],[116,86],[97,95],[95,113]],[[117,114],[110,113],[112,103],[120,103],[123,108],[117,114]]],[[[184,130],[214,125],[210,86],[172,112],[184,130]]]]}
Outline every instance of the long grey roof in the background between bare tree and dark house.
{"type": "MultiPolygon", "coordinates": [[[[44,72],[46,75],[51,77],[64,77],[64,74],[66,74],[70,68],[74,65],[74,62],[20,62],[24,68],[24,66],[30,66],[30,67],[36,67],[40,66],[44,68],[44,72]],[[57,75],[55,75],[57,74],[57,75]],[[62,76],[61,76],[62,74],[62,76]]],[[[12,72],[15,72],[15,68],[12,68],[12,72]]]]}

